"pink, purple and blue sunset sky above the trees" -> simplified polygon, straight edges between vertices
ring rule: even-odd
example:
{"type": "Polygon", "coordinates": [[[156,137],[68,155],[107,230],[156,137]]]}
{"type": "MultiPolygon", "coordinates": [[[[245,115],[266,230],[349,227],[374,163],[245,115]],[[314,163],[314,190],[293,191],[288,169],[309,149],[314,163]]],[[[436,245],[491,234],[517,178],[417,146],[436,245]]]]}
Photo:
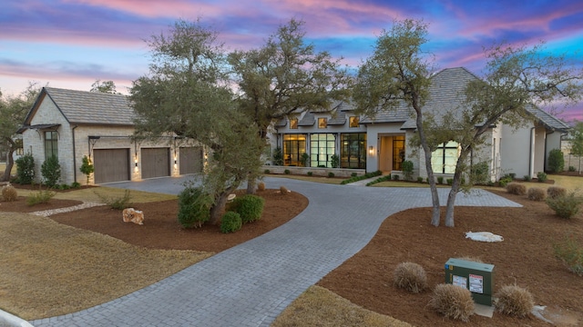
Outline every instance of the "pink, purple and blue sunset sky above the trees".
{"type": "MultiPolygon", "coordinates": [[[[261,46],[291,18],[305,22],[306,40],[356,67],[393,20],[423,19],[425,50],[440,68],[465,66],[480,75],[483,48],[541,40],[583,66],[581,0],[4,0],[0,9],[0,91],[18,94],[28,82],[89,90],[112,80],[127,94],[148,73],[150,35],[177,19],[196,20],[220,34],[228,51],[261,46]]],[[[583,120],[583,104],[559,114],[583,120]]]]}

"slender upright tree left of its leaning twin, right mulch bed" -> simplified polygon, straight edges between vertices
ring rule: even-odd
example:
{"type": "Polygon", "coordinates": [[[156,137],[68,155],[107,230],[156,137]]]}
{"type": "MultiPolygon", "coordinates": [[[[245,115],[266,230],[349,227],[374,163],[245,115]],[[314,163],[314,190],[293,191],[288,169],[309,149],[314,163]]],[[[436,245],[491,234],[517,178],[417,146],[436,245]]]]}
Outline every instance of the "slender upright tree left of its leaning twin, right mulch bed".
{"type": "Polygon", "coordinates": [[[359,67],[354,100],[358,110],[368,116],[373,116],[379,110],[392,110],[402,105],[414,109],[418,143],[424,150],[431,188],[431,223],[438,226],[439,195],[431,166],[431,154],[441,142],[429,139],[424,132],[423,107],[434,70],[433,59],[422,51],[422,46],[427,42],[426,36],[427,25],[422,21],[394,21],[391,30],[383,31],[378,37],[373,55],[359,67]]]}

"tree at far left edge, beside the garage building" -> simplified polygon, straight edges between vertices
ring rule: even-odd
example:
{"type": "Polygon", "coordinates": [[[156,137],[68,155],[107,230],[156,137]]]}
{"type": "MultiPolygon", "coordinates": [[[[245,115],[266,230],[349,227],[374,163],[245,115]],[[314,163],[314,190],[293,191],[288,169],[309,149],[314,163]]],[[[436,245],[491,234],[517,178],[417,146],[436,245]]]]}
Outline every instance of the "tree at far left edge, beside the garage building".
{"type": "Polygon", "coordinates": [[[35,103],[36,95],[40,92],[40,87],[36,83],[29,83],[18,96],[8,96],[3,98],[0,93],[0,143],[8,150],[6,157],[6,168],[0,181],[10,180],[10,172],[14,166],[13,154],[21,145],[15,139],[16,131],[25,121],[26,114],[35,103]]]}

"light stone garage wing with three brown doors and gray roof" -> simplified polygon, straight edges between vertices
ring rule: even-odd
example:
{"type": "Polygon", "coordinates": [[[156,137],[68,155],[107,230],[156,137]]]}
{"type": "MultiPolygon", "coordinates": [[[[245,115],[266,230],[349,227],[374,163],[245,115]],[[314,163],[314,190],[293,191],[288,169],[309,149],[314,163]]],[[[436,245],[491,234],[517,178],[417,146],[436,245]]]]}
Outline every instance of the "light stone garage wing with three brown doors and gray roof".
{"type": "Polygon", "coordinates": [[[21,128],[24,154],[35,160],[36,182],[50,155],[61,166],[59,183],[84,184],[83,157],[95,167],[89,183],[138,181],[144,178],[200,173],[204,148],[172,135],[139,140],[128,97],[44,87],[21,128]]]}

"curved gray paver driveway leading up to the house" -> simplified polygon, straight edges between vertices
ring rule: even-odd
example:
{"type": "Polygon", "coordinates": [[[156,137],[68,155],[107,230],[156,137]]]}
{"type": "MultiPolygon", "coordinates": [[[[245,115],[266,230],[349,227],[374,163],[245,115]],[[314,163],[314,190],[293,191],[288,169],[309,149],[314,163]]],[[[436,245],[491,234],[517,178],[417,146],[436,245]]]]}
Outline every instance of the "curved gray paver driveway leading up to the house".
{"type": "MultiPolygon", "coordinates": [[[[108,186],[178,193],[180,178],[108,186]]],[[[35,326],[269,326],[312,284],[358,253],[384,219],[431,206],[427,188],[376,188],[266,178],[268,188],[310,199],[289,223],[138,292],[35,326]]],[[[440,189],[446,199],[448,189],[440,189]]],[[[493,193],[460,193],[457,205],[519,206],[493,193]]],[[[429,219],[429,218],[428,218],[429,219]]]]}

